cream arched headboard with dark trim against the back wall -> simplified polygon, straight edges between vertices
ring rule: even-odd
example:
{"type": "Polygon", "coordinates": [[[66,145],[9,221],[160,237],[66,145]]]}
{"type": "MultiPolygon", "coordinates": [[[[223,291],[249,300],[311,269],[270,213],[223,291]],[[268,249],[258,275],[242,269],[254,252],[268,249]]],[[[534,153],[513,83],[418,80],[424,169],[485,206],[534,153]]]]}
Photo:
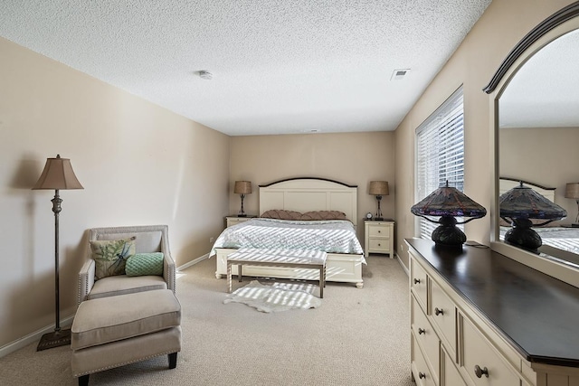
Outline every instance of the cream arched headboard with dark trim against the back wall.
{"type": "Polygon", "coordinates": [[[260,215],[271,209],[340,211],[357,224],[357,186],[323,178],[291,178],[260,185],[260,215]]]}

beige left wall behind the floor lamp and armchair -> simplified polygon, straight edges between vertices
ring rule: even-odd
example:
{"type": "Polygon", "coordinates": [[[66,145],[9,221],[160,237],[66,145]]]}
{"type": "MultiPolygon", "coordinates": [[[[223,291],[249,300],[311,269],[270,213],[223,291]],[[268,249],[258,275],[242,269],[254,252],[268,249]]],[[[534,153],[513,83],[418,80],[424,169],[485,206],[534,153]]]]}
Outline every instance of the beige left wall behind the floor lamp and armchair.
{"type": "MultiPolygon", "coordinates": [[[[229,210],[229,137],[0,39],[0,348],[54,323],[47,157],[71,158],[61,191],[61,316],[76,306],[92,227],[164,223],[177,265],[210,249],[229,210]]],[[[178,285],[178,284],[177,284],[178,285]]]]}

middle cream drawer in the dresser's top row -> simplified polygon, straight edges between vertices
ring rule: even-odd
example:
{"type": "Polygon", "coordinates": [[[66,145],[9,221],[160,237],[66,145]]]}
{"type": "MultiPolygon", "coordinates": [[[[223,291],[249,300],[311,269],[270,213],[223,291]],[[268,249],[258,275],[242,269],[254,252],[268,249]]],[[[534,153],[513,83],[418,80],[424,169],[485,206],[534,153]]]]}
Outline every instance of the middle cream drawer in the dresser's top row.
{"type": "Polygon", "coordinates": [[[441,287],[431,280],[431,320],[441,331],[441,340],[456,357],[456,306],[441,287]]]}

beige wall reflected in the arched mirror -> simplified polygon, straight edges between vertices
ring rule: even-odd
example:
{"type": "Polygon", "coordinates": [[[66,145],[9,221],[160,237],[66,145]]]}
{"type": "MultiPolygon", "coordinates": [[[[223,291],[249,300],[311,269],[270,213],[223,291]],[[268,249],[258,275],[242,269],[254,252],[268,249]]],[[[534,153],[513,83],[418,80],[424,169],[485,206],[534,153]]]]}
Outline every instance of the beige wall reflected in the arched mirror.
{"type": "Polygon", "coordinates": [[[574,222],[577,203],[565,198],[565,184],[579,181],[579,127],[501,128],[499,134],[500,175],[556,188],[555,203],[568,213],[557,222],[574,222]]]}

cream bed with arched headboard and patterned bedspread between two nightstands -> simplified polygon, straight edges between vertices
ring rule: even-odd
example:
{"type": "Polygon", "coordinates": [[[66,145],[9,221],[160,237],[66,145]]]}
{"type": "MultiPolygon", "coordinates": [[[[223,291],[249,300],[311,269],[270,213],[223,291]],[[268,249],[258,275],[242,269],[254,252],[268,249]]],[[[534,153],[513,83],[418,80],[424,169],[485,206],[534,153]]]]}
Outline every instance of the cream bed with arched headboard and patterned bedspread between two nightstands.
{"type": "MultiPolygon", "coordinates": [[[[291,220],[257,218],[225,229],[215,240],[216,278],[227,275],[227,255],[239,248],[293,248],[327,252],[326,281],[364,287],[364,250],[356,237],[357,186],[319,178],[293,178],[260,185],[260,214],[293,215],[291,220]],[[321,213],[321,217],[320,217],[321,213]],[[327,213],[341,213],[327,217],[327,213]]],[[[282,216],[283,217],[283,216],[282,216]]],[[[233,267],[233,274],[237,274],[233,267]]],[[[311,269],[243,268],[244,276],[318,280],[311,269]]]]}

